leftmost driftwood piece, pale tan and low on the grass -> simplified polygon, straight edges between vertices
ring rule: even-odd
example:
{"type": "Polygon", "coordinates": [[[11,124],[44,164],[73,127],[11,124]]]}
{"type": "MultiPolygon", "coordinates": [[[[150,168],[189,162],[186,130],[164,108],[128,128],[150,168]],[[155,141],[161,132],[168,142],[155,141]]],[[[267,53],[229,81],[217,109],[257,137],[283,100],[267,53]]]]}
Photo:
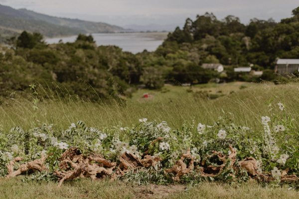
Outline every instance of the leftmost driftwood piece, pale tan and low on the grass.
{"type": "Polygon", "coordinates": [[[29,170],[31,170],[33,172],[46,171],[47,168],[45,167],[44,163],[45,163],[45,160],[47,159],[47,157],[48,156],[45,156],[44,154],[42,154],[40,159],[36,159],[31,162],[26,162],[26,163],[20,165],[19,168],[15,171],[13,169],[14,164],[18,161],[23,160],[23,158],[21,158],[21,157],[14,158],[13,160],[11,160],[9,162],[9,164],[6,165],[7,170],[8,170],[8,175],[6,176],[6,178],[12,178],[12,177],[18,176],[24,172],[29,171],[29,170]]]}

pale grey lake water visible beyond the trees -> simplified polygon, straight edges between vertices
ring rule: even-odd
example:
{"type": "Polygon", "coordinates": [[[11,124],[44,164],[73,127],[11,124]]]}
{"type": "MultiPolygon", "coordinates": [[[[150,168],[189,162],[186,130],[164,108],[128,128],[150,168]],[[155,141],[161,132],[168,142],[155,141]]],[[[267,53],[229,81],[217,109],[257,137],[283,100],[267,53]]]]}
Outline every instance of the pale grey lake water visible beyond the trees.
{"type": "MultiPolygon", "coordinates": [[[[145,32],[145,33],[99,33],[92,34],[97,45],[115,45],[122,48],[124,51],[129,51],[134,54],[144,50],[154,51],[162,44],[167,37],[167,32],[145,32]]],[[[48,44],[63,42],[74,42],[77,36],[47,38],[48,44]]]]}

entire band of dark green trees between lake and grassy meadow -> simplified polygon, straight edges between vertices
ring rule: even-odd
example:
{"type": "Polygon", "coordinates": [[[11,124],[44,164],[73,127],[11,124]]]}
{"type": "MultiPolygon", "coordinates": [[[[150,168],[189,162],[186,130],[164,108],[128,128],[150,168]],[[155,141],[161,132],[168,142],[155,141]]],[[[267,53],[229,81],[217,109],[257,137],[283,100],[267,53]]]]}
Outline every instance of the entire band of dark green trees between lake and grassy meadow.
{"type": "Polygon", "coordinates": [[[48,45],[39,33],[22,32],[11,38],[12,48],[0,53],[0,95],[24,91],[32,82],[58,85],[70,95],[98,100],[129,95],[129,88],[158,89],[166,83],[201,84],[218,81],[273,80],[275,60],[299,58],[299,7],[293,17],[277,23],[252,19],[248,25],[236,16],[218,20],[212,13],[187,19],[155,52],[132,54],[116,46],[97,46],[91,35],[73,43],[48,45]],[[201,68],[221,63],[218,73],[201,68]],[[262,78],[233,71],[236,66],[265,71],[262,78]]]}

